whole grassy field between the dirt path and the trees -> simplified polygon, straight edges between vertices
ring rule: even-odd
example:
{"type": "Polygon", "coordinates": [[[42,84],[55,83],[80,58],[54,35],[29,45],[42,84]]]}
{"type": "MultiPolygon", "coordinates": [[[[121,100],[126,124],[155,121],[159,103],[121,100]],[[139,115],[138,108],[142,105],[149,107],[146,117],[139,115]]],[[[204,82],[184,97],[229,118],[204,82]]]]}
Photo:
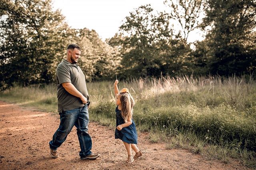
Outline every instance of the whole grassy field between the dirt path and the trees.
{"type": "MultiPolygon", "coordinates": [[[[90,120],[115,127],[113,82],[87,83],[90,120]]],[[[256,81],[252,77],[161,77],[121,81],[134,97],[134,121],[150,142],[256,168],[256,81]]],[[[56,85],[14,87],[0,100],[56,112],[56,85]]]]}

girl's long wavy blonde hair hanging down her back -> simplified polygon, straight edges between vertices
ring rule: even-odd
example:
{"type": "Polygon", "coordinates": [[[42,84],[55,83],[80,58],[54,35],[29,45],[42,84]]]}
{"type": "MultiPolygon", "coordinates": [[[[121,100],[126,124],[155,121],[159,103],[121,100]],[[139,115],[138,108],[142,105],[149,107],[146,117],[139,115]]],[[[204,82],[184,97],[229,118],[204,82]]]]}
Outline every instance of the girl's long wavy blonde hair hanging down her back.
{"type": "Polygon", "coordinates": [[[134,99],[130,93],[120,93],[121,115],[126,123],[129,118],[132,118],[134,99]]]}

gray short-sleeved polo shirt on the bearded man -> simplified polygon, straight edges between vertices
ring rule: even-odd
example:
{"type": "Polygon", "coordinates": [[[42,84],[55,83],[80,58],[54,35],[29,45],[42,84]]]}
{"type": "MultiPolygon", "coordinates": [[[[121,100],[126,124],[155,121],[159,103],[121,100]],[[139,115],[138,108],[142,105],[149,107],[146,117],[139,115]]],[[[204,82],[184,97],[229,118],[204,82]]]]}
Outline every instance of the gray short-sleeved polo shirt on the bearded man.
{"type": "Polygon", "coordinates": [[[76,109],[83,107],[79,97],[73,96],[64,89],[62,83],[70,82],[76,87],[80,93],[84,95],[89,101],[89,95],[86,88],[85,76],[80,67],[77,64],[72,64],[66,59],[57,66],[56,69],[57,79],[57,97],[58,97],[58,112],[61,113],[63,110],[76,109]]]}

